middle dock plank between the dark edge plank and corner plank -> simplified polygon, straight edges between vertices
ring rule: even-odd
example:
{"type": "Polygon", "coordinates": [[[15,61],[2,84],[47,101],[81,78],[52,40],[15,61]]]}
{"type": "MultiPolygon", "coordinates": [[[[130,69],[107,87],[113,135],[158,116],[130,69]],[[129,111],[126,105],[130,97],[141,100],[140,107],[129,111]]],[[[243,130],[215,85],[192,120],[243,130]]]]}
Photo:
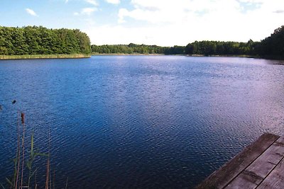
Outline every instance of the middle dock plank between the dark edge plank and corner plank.
{"type": "Polygon", "coordinates": [[[281,161],[284,155],[284,138],[280,137],[261,154],[251,165],[242,171],[226,189],[256,188],[281,161]]]}

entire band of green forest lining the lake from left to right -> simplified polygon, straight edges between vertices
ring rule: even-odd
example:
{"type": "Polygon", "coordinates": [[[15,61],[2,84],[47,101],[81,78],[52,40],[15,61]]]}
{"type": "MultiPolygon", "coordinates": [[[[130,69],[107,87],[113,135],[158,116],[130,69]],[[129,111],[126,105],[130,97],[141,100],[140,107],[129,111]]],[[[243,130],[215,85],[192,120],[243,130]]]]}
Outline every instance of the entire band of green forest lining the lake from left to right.
{"type": "Polygon", "coordinates": [[[90,45],[80,30],[48,29],[42,26],[11,28],[0,26],[0,55],[71,54],[165,54],[165,55],[253,55],[284,58],[284,25],[261,42],[195,41],[186,46],[90,45]]]}

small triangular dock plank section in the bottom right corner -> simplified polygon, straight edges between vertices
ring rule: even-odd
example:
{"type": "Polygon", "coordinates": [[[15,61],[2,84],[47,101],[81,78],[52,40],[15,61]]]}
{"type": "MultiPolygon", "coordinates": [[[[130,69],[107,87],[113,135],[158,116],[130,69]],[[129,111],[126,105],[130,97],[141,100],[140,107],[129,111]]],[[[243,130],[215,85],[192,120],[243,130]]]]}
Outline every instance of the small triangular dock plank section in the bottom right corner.
{"type": "Polygon", "coordinates": [[[284,188],[284,159],[280,161],[274,170],[269,174],[269,176],[258,186],[258,189],[264,188],[284,188]]]}

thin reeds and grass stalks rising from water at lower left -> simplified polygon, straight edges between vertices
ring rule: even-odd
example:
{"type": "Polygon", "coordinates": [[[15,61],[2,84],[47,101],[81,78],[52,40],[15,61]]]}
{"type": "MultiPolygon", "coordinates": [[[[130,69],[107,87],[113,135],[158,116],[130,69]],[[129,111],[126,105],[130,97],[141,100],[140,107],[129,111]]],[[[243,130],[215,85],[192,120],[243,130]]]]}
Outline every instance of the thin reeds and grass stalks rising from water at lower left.
{"type": "MultiPolygon", "coordinates": [[[[16,101],[13,101],[15,104],[16,101]]],[[[2,110],[2,106],[0,105],[2,110]]],[[[31,147],[26,147],[26,115],[25,113],[17,110],[17,141],[16,141],[16,156],[13,159],[13,176],[6,178],[6,188],[22,189],[22,188],[38,188],[37,183],[37,170],[33,167],[35,159],[40,156],[47,157],[46,173],[45,173],[45,189],[55,188],[55,171],[53,172],[53,182],[51,181],[50,169],[50,128],[48,129],[48,154],[38,152],[34,147],[34,131],[31,133],[31,147]],[[28,156],[26,154],[28,152],[28,156]],[[31,184],[34,178],[35,183],[31,184]]],[[[0,187],[6,189],[2,183],[0,187]]],[[[67,183],[66,183],[67,187],[67,183]]]]}

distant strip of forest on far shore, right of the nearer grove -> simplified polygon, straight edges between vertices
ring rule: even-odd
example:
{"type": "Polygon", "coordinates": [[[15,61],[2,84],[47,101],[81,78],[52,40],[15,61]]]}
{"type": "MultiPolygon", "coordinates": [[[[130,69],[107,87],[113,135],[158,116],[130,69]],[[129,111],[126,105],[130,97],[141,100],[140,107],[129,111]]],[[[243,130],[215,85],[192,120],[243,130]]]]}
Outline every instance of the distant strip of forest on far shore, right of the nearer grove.
{"type": "Polygon", "coordinates": [[[187,46],[92,45],[92,53],[165,54],[165,55],[254,55],[284,58],[284,25],[261,42],[195,41],[187,46]]]}

